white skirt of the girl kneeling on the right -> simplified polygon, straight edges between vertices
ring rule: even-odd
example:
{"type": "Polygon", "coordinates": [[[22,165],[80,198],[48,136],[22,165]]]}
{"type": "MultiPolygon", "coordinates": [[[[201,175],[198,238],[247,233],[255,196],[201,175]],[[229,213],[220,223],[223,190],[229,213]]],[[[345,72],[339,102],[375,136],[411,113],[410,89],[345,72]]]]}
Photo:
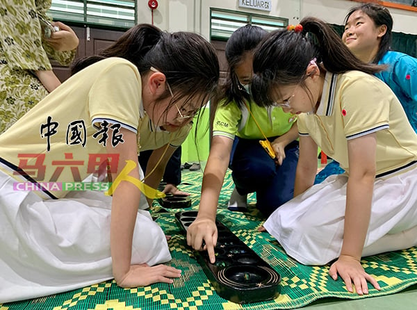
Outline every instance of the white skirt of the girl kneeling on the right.
{"type": "MultiPolygon", "coordinates": [[[[347,176],[332,175],[280,206],[265,229],[304,265],[338,258],[343,242],[347,176]]],[[[417,167],[375,181],[363,256],[417,245],[417,167]]]]}

